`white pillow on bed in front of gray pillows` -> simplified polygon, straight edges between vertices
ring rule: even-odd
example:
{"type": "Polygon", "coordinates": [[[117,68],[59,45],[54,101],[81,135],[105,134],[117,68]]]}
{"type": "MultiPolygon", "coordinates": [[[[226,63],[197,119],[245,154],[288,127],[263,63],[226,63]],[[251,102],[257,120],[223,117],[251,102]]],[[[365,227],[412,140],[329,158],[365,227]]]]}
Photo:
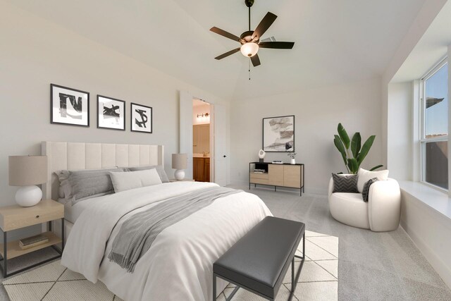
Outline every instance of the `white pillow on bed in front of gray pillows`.
{"type": "Polygon", "coordinates": [[[133,188],[152,186],[161,184],[161,179],[156,169],[145,171],[128,171],[127,173],[110,172],[111,182],[114,192],[121,192],[133,188]]]}

